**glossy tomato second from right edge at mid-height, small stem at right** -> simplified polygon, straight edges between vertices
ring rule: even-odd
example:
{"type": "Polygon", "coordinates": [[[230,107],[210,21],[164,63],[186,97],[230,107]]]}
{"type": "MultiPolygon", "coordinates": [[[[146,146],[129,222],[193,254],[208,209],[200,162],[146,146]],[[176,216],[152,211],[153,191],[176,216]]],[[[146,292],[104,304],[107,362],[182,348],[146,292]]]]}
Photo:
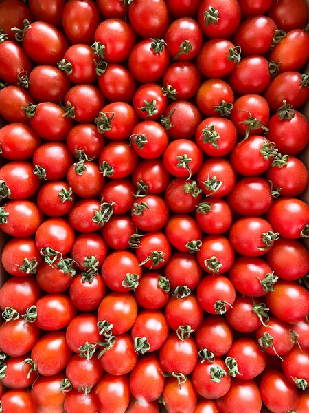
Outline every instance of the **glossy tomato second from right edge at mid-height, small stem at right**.
{"type": "MultiPolygon", "coordinates": [[[[229,193],[229,206],[239,215],[263,215],[273,203],[273,196],[279,195],[279,187],[260,177],[244,178],[237,182],[229,193]]],[[[281,194],[280,194],[281,195],[281,194]]]]}

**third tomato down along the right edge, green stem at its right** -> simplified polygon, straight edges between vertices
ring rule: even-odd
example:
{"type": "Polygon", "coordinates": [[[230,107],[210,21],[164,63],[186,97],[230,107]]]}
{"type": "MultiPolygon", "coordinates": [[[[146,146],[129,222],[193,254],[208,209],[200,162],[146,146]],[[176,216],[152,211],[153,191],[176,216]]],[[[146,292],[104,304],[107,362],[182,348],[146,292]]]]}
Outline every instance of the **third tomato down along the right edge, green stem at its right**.
{"type": "Polygon", "coordinates": [[[294,109],[298,109],[309,98],[309,87],[306,78],[298,72],[284,72],[276,76],[267,87],[264,94],[271,112],[276,112],[282,106],[283,100],[294,109]]]}

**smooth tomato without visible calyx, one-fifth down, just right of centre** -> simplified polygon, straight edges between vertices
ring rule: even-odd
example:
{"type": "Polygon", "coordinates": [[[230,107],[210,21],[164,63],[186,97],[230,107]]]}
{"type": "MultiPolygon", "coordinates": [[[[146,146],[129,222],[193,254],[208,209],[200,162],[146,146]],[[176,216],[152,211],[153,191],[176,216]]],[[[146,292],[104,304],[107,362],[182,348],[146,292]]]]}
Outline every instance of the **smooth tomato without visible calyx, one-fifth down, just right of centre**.
{"type": "Polygon", "coordinates": [[[201,85],[201,73],[191,62],[176,62],[165,71],[163,85],[170,85],[176,90],[177,99],[188,100],[193,98],[201,85]]]}

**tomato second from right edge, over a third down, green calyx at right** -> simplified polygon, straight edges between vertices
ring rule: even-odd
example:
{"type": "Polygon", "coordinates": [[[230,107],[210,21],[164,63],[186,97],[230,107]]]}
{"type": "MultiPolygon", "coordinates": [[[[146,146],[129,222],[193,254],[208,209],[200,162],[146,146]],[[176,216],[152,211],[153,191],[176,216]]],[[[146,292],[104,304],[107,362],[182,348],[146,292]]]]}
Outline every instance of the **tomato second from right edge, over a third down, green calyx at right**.
{"type": "Polygon", "coordinates": [[[231,151],[231,165],[241,175],[260,175],[271,166],[273,147],[264,136],[249,136],[231,151]]]}

